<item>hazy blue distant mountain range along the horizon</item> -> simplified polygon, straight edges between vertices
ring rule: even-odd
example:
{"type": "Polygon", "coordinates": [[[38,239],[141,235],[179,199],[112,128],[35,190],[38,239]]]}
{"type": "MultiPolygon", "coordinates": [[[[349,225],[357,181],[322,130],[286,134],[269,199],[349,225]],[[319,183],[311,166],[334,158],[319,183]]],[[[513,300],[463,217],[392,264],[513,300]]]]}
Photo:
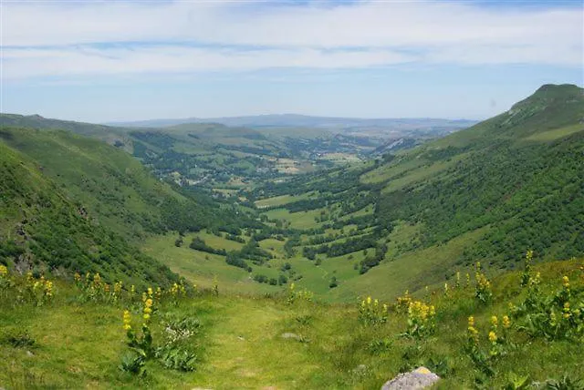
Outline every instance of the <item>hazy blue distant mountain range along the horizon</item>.
{"type": "Polygon", "coordinates": [[[110,122],[110,126],[161,128],[184,123],[220,123],[248,128],[394,128],[403,130],[432,128],[468,128],[477,121],[441,118],[334,118],[297,114],[256,115],[222,118],[151,119],[132,122],[110,122]]]}

